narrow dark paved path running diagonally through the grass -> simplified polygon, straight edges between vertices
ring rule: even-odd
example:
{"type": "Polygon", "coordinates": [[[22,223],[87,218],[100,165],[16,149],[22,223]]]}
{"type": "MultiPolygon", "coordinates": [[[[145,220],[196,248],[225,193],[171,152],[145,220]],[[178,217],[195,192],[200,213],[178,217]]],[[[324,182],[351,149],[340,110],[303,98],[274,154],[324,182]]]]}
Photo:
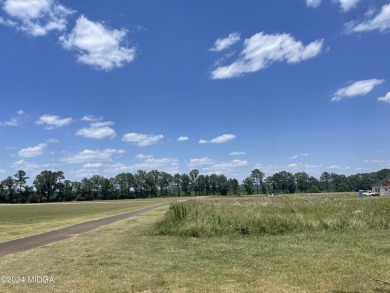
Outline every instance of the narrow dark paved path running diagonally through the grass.
{"type": "Polygon", "coordinates": [[[108,225],[120,220],[124,220],[130,217],[137,216],[139,214],[143,214],[146,212],[149,212],[151,210],[157,209],[159,207],[163,207],[165,205],[168,205],[168,203],[163,203],[159,204],[156,206],[148,207],[148,208],[143,208],[140,210],[124,213],[124,214],[119,214],[116,216],[112,217],[107,217],[107,218],[102,218],[98,220],[93,220],[77,225],[73,225],[70,227],[66,227],[63,229],[55,230],[55,231],[50,231],[34,236],[29,236],[21,239],[16,239],[8,242],[3,242],[0,243],[0,257],[10,254],[10,253],[16,253],[16,252],[21,252],[24,250],[29,250],[32,248],[40,247],[46,244],[50,244],[56,241],[68,239],[72,236],[75,236],[77,234],[81,234],[84,232],[88,232],[91,230],[94,230],[98,227],[108,225]]]}

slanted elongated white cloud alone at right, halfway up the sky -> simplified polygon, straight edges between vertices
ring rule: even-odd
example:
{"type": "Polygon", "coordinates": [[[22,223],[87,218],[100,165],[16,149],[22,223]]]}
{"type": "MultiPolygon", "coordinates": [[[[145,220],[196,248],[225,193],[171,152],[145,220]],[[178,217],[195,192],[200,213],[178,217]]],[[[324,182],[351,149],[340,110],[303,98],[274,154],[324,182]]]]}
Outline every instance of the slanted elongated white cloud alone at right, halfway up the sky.
{"type": "Polygon", "coordinates": [[[334,93],[331,101],[340,101],[345,97],[367,95],[369,92],[371,92],[374,89],[375,86],[380,85],[383,82],[384,82],[383,79],[376,79],[376,78],[356,81],[347,87],[338,89],[334,93]]]}

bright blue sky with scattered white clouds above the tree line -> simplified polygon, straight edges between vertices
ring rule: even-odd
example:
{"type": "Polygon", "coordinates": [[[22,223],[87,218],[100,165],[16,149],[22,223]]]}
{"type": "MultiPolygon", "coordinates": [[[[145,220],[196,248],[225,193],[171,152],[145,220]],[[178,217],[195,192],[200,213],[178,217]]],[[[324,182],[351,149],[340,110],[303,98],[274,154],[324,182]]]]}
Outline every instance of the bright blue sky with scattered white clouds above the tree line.
{"type": "Polygon", "coordinates": [[[0,179],[390,168],[390,1],[0,1],[0,179]]]}

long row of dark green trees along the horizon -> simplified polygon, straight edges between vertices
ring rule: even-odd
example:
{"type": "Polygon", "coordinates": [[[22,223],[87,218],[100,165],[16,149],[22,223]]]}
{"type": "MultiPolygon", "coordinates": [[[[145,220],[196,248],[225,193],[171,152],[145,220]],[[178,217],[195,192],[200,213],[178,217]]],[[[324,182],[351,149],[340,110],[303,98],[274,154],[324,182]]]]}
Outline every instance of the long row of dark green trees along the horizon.
{"type": "Polygon", "coordinates": [[[370,189],[376,181],[390,176],[390,169],[351,176],[324,172],[319,179],[305,172],[281,171],[264,178],[254,169],[241,184],[223,174],[188,174],[152,170],[121,173],[112,178],[94,175],[81,181],[65,179],[62,171],[42,171],[27,184],[29,177],[19,170],[0,181],[0,203],[62,202],[73,200],[113,200],[164,196],[251,195],[270,193],[347,192],[370,189]]]}

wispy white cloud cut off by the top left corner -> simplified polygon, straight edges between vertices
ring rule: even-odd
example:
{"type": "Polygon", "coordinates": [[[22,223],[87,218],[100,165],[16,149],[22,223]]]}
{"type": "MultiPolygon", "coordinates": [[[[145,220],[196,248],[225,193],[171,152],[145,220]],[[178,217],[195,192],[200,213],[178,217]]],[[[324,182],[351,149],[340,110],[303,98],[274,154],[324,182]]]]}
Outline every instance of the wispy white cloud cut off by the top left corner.
{"type": "Polygon", "coordinates": [[[6,0],[3,10],[13,18],[8,23],[31,36],[65,30],[67,17],[74,13],[54,0],[6,0]]]}

